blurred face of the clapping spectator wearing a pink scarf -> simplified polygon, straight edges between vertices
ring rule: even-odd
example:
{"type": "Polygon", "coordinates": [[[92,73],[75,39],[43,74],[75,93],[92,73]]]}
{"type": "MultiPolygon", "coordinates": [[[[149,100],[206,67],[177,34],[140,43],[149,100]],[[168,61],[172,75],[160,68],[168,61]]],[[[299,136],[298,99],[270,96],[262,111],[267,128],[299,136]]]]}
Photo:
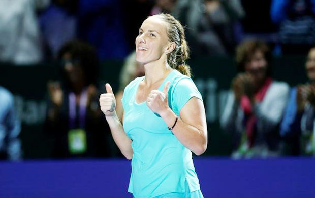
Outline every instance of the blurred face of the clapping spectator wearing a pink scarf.
{"type": "Polygon", "coordinates": [[[260,50],[257,50],[251,59],[245,63],[245,71],[254,77],[257,85],[264,82],[267,74],[267,60],[260,50]]]}

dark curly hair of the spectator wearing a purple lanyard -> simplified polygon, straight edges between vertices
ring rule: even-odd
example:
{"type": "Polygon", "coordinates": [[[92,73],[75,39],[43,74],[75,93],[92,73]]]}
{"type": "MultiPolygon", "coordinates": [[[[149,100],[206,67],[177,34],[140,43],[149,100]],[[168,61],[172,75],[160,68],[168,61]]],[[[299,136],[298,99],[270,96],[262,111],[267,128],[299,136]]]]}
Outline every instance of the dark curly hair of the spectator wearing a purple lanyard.
{"type": "Polygon", "coordinates": [[[90,84],[96,85],[99,59],[96,50],[88,43],[73,40],[65,43],[59,53],[58,59],[69,53],[71,59],[76,61],[77,66],[83,68],[86,86],[90,84]]]}

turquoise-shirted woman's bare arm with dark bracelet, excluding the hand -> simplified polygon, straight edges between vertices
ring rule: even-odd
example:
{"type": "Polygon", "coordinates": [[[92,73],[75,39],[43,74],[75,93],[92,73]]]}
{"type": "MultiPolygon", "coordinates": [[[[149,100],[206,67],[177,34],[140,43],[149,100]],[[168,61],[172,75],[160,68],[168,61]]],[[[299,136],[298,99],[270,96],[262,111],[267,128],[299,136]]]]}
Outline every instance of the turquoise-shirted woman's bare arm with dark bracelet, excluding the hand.
{"type": "MultiPolygon", "coordinates": [[[[168,108],[160,114],[168,127],[172,127],[176,114],[168,108]]],[[[172,129],[178,140],[196,155],[201,155],[207,149],[208,132],[203,102],[193,97],[180,110],[180,118],[172,129]]]]}

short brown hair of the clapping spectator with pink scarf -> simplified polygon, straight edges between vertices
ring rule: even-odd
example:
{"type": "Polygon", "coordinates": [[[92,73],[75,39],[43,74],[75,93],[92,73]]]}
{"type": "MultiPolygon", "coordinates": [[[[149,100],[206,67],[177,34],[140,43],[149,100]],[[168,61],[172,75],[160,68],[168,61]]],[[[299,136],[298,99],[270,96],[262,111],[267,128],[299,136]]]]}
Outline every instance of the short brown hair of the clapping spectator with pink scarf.
{"type": "Polygon", "coordinates": [[[267,69],[269,70],[269,63],[271,59],[271,52],[268,45],[259,39],[248,39],[236,48],[236,64],[238,71],[245,71],[246,62],[253,58],[253,55],[260,51],[263,53],[264,58],[267,61],[267,69]]]}

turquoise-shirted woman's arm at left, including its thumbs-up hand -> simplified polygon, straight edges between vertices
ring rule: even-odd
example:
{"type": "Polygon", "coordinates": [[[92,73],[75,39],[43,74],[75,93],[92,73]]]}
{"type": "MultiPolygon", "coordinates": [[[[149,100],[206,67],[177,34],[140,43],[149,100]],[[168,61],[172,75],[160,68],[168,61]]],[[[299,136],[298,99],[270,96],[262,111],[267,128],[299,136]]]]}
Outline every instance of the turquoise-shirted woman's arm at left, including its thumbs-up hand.
{"type": "Polygon", "coordinates": [[[132,140],[124,132],[122,124],[117,116],[115,107],[116,99],[111,86],[107,83],[106,94],[101,94],[100,96],[100,107],[106,116],[106,121],[110,127],[113,139],[120,149],[123,156],[127,159],[132,159],[133,149],[131,147],[132,140]]]}

